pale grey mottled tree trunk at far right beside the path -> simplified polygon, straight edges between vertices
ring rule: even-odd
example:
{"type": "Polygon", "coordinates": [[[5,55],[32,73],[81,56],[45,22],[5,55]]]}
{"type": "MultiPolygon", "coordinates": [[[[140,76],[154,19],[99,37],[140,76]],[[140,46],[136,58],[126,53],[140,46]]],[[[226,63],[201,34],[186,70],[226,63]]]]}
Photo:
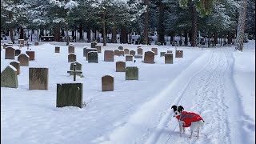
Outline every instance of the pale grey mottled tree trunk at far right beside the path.
{"type": "Polygon", "coordinates": [[[239,12],[239,18],[238,18],[238,34],[237,38],[235,40],[235,50],[242,51],[243,46],[243,37],[245,32],[245,25],[246,25],[246,6],[247,2],[246,0],[242,0],[242,7],[239,12]]]}

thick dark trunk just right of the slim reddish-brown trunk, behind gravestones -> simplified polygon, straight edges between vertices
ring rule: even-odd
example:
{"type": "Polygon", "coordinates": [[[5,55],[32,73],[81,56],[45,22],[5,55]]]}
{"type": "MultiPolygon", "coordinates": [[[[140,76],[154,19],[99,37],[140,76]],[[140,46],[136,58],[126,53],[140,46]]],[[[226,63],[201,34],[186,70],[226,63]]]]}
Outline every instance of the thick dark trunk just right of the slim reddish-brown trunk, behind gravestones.
{"type": "Polygon", "coordinates": [[[158,42],[161,42],[161,44],[165,42],[164,10],[165,4],[159,1],[158,42]]]}

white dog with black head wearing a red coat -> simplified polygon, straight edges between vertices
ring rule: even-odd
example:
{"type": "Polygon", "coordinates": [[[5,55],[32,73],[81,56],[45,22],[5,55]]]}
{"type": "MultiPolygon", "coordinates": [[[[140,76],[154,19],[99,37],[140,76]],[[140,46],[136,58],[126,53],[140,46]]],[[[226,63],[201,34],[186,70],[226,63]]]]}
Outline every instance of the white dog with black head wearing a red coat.
{"type": "Polygon", "coordinates": [[[183,111],[183,106],[174,105],[171,106],[171,108],[174,109],[174,117],[178,119],[180,136],[185,133],[185,127],[190,127],[189,138],[192,138],[194,130],[198,130],[197,137],[199,137],[199,129],[202,128],[204,124],[202,117],[199,114],[183,111]]]}

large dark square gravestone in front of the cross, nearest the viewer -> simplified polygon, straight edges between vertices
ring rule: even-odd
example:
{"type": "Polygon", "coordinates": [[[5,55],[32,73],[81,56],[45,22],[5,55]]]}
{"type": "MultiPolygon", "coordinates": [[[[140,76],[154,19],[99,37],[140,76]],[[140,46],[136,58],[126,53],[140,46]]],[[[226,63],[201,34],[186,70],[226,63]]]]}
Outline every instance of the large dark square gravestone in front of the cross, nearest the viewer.
{"type": "Polygon", "coordinates": [[[58,83],[56,107],[78,106],[82,108],[82,83],[58,83]]]}

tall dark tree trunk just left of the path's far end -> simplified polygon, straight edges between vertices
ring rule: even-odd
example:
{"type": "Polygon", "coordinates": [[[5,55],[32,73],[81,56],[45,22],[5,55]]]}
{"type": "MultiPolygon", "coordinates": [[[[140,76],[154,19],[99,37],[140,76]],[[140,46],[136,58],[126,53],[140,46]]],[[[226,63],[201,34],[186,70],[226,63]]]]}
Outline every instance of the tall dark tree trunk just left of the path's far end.
{"type": "Polygon", "coordinates": [[[196,46],[198,26],[197,26],[197,10],[195,8],[194,1],[192,2],[192,41],[191,46],[196,46]]]}

